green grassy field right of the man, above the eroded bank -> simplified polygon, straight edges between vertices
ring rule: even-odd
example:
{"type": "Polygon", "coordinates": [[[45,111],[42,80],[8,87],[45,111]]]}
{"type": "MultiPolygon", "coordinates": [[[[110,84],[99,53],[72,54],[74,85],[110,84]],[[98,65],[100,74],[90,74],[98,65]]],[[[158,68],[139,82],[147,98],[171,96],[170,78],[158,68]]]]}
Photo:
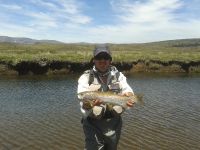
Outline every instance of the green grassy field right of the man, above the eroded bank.
{"type": "Polygon", "coordinates": [[[200,39],[111,45],[114,60],[200,61],[200,39]]]}

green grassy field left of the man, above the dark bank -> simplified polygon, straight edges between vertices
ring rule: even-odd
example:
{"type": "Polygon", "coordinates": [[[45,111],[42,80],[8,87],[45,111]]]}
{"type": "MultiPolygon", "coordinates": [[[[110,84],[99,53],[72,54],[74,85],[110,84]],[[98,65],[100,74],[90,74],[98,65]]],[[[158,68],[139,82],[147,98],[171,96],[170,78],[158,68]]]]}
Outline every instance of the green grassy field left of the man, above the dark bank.
{"type": "Polygon", "coordinates": [[[0,43],[0,61],[13,64],[22,61],[85,62],[94,46],[77,44],[13,44],[0,43]]]}

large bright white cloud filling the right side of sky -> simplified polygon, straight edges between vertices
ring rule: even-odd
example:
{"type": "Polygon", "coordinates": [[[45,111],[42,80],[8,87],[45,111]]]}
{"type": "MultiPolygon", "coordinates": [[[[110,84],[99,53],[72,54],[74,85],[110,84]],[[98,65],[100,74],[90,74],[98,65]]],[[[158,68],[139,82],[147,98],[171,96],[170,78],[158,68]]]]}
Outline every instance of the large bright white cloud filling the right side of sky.
{"type": "Polygon", "coordinates": [[[180,0],[113,0],[118,23],[92,28],[100,42],[152,42],[200,37],[199,20],[180,18],[184,3],[180,0]],[[101,37],[101,38],[100,38],[101,37]]]}

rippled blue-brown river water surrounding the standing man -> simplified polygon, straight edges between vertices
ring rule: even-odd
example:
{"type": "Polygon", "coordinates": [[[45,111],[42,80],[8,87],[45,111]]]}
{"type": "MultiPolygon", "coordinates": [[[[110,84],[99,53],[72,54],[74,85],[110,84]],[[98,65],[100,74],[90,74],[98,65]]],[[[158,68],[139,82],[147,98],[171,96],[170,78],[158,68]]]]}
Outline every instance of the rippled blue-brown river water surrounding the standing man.
{"type": "MultiPolygon", "coordinates": [[[[78,76],[0,78],[0,150],[84,147],[78,76]]],[[[199,150],[200,76],[128,76],[145,105],[126,111],[119,150],[199,150]]]]}

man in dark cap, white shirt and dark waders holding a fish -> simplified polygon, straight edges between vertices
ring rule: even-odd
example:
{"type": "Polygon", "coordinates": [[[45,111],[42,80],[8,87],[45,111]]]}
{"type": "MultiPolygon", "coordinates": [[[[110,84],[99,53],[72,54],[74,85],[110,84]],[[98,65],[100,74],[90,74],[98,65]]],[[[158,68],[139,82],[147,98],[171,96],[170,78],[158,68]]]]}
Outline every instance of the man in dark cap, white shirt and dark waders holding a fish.
{"type": "MultiPolygon", "coordinates": [[[[78,80],[77,93],[85,91],[113,91],[125,96],[133,95],[126,77],[116,67],[111,66],[112,56],[108,47],[98,46],[94,50],[91,70],[85,71],[78,80]]],[[[95,99],[93,107],[80,103],[83,114],[83,130],[86,150],[116,150],[121,134],[121,106],[105,105],[95,99]]],[[[133,102],[127,102],[132,107],[133,102]]]]}

